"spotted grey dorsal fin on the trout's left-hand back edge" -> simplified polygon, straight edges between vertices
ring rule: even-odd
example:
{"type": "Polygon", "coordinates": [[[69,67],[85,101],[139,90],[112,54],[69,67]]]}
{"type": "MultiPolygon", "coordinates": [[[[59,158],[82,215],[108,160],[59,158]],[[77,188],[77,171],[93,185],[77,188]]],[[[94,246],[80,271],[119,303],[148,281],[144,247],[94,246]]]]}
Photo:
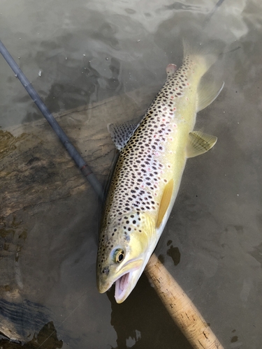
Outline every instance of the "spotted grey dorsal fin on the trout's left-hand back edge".
{"type": "Polygon", "coordinates": [[[122,150],[130,140],[138,124],[124,122],[124,124],[108,124],[108,132],[118,150],[122,150]]]}

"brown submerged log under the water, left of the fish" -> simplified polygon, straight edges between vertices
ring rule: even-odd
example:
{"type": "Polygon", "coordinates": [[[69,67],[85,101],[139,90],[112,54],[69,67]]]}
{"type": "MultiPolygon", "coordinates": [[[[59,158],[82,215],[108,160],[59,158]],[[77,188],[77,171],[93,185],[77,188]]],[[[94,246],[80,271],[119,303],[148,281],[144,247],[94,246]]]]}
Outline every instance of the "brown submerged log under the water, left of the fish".
{"type": "MultiPolygon", "coordinates": [[[[115,151],[107,124],[142,115],[154,96],[152,91],[154,88],[136,91],[54,115],[101,181],[115,151]],[[137,95],[140,105],[133,102],[137,95]]],[[[0,131],[0,183],[2,217],[87,188],[85,178],[44,118],[0,131]]]]}

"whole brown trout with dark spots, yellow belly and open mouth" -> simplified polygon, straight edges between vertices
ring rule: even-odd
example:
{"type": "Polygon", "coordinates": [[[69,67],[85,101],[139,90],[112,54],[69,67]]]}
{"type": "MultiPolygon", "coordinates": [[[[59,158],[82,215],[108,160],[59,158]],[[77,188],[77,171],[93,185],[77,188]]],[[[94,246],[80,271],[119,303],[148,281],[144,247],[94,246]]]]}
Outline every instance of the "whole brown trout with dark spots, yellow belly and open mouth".
{"type": "Polygon", "coordinates": [[[115,283],[122,303],[135,288],[165,228],[187,158],[204,154],[217,137],[194,131],[196,113],[210,105],[224,82],[205,73],[217,55],[184,41],[184,59],[167,78],[138,124],[109,124],[119,157],[108,189],[96,260],[96,283],[115,283]]]}

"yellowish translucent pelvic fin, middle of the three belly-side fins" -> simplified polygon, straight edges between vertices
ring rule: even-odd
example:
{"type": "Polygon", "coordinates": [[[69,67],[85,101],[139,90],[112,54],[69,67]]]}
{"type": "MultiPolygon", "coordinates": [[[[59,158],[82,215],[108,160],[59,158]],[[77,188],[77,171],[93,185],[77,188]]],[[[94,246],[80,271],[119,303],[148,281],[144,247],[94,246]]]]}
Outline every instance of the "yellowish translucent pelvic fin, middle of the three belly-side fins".
{"type": "Polygon", "coordinates": [[[214,135],[207,135],[200,131],[189,133],[189,142],[187,144],[187,157],[194,158],[206,153],[217,142],[217,137],[214,135]]]}

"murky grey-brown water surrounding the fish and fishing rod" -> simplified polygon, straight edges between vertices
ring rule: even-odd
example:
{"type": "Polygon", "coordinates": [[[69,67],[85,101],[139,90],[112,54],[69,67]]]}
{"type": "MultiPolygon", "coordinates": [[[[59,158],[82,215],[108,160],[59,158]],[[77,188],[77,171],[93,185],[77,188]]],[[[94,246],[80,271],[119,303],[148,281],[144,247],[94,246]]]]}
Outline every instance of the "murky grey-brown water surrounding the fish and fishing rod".
{"type": "MultiPolygon", "coordinates": [[[[214,40],[224,52],[240,47],[214,69],[225,87],[198,114],[196,128],[218,142],[189,159],[156,253],[225,348],[259,349],[262,5],[225,0],[203,27],[214,5],[2,0],[0,33],[52,112],[110,101],[101,114],[63,118],[101,180],[113,157],[106,124],[125,121],[130,110],[140,116],[166,65],[181,64],[183,37],[214,40]],[[90,142],[81,125],[94,131],[90,142]]],[[[0,57],[0,316],[10,318],[7,327],[18,323],[33,348],[191,348],[145,276],[123,304],[112,291],[97,292],[99,202],[41,119],[0,57]]],[[[0,345],[17,348],[3,339],[0,345]]]]}

